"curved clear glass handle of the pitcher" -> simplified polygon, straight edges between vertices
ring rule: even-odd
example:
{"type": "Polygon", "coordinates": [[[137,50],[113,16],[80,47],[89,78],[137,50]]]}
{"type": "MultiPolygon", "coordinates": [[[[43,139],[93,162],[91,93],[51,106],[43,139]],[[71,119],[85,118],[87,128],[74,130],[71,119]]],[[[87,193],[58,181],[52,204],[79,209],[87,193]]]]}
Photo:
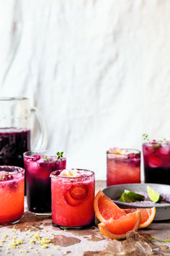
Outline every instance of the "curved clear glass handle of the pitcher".
{"type": "Polygon", "coordinates": [[[48,132],[47,132],[45,120],[41,112],[35,106],[31,108],[31,112],[35,114],[37,118],[37,122],[39,124],[39,128],[40,128],[40,135],[39,135],[37,144],[35,148],[33,148],[33,150],[35,151],[45,150],[48,144],[48,132]]]}

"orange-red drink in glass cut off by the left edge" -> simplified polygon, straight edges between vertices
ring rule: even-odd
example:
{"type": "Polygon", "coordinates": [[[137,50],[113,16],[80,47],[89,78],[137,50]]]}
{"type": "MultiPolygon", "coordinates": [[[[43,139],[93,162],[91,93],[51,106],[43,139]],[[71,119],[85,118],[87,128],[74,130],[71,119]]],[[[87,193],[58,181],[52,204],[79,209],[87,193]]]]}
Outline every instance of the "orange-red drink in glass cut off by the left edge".
{"type": "MultiPolygon", "coordinates": [[[[1,179],[6,171],[0,166],[0,223],[16,223],[24,213],[24,169],[21,173],[14,173],[8,166],[6,171],[12,175],[12,179],[1,179]]],[[[17,167],[16,167],[17,168],[17,167]]]]}

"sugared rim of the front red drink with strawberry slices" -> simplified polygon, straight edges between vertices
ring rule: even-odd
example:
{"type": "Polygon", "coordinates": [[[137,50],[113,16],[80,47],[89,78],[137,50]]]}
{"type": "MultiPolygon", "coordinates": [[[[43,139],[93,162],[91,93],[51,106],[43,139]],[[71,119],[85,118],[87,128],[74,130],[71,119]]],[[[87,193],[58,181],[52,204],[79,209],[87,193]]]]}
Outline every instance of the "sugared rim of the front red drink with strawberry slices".
{"type": "Polygon", "coordinates": [[[91,171],[91,170],[87,170],[87,169],[84,169],[84,168],[65,168],[65,169],[61,169],[61,170],[55,170],[55,171],[52,171],[51,174],[50,174],[50,178],[51,179],[86,179],[86,178],[89,178],[91,176],[95,176],[95,173],[94,171],[91,171]],[[55,175],[56,172],[58,171],[63,171],[63,170],[77,170],[77,171],[89,171],[90,174],[89,175],[86,175],[86,176],[75,176],[75,177],[71,177],[71,176],[58,176],[58,175],[55,175]]]}

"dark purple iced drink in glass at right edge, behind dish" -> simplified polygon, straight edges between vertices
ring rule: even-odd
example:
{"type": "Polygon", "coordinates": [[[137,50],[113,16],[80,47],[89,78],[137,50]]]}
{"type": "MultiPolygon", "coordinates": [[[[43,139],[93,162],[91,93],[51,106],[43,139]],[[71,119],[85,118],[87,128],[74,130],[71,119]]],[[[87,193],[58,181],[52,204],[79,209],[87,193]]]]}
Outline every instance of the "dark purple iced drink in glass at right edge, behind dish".
{"type": "Polygon", "coordinates": [[[170,142],[143,144],[146,183],[170,184],[170,142]]]}

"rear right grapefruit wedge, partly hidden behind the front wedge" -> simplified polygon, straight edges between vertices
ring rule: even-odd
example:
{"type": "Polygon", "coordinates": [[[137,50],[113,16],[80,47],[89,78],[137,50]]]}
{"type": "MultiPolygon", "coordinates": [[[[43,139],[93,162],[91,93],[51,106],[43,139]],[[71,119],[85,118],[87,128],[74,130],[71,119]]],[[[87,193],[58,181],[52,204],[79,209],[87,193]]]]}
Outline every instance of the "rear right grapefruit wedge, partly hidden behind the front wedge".
{"type": "Polygon", "coordinates": [[[140,210],[140,225],[138,229],[146,228],[156,216],[156,208],[137,208],[137,209],[125,209],[125,213],[134,213],[135,211],[140,210]]]}

